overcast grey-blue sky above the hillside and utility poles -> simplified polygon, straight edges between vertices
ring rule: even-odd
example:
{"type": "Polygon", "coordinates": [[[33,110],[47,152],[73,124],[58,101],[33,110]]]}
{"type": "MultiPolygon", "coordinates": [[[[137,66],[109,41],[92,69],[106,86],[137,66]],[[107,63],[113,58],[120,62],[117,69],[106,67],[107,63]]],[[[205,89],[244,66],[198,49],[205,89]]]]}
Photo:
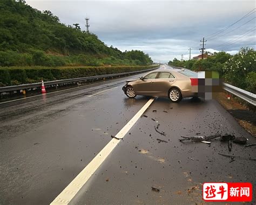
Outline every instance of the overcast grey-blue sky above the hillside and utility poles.
{"type": "Polygon", "coordinates": [[[26,0],[26,3],[41,11],[50,10],[66,25],[79,23],[83,30],[87,15],[90,31],[105,44],[122,51],[142,50],[161,63],[174,57],[180,59],[181,54],[188,59],[190,47],[191,56],[197,56],[203,37],[210,52],[224,50],[233,54],[241,46],[255,49],[256,44],[255,1],[26,0]]]}

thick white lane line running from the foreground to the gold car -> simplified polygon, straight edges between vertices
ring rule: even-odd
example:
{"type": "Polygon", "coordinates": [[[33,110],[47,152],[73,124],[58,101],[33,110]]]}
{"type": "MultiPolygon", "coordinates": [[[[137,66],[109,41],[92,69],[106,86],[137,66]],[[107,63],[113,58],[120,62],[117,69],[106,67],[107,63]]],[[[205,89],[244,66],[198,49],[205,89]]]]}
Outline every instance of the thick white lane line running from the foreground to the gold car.
{"type": "MultiPolygon", "coordinates": [[[[133,118],[116,134],[116,137],[123,139],[124,135],[129,132],[131,127],[136,123],[136,121],[142,116],[142,114],[147,110],[147,108],[154,101],[151,98],[147,103],[137,112],[133,118]]],[[[99,166],[104,162],[104,160],[109,156],[113,149],[118,145],[121,140],[112,139],[103,149],[100,151],[95,158],[80,172],[73,181],[56,197],[55,200],[51,202],[51,205],[56,204],[68,204],[73,197],[79,192],[79,190],[84,186],[84,184],[90,179],[90,177],[95,173],[99,166]]]]}

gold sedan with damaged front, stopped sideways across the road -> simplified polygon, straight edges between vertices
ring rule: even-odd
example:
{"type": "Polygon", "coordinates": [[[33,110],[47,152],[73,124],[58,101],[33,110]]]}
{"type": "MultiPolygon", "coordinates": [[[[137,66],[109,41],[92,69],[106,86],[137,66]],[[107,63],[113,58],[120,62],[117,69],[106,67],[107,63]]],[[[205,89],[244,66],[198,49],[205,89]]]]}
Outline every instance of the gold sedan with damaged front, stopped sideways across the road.
{"type": "Polygon", "coordinates": [[[192,92],[191,78],[197,78],[197,73],[186,69],[156,70],[135,80],[127,80],[123,87],[129,98],[136,95],[154,97],[169,97],[178,102],[182,98],[197,97],[192,92]]]}

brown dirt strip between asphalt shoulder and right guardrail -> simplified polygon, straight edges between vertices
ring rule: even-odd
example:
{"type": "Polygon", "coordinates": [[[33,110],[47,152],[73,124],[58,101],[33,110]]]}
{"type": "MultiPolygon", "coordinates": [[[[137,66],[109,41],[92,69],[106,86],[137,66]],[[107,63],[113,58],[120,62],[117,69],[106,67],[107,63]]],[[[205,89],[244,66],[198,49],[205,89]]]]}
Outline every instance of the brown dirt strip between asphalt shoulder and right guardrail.
{"type": "Polygon", "coordinates": [[[256,113],[232,98],[227,99],[227,93],[217,95],[218,102],[238,121],[238,123],[256,138],[256,113]]]}

